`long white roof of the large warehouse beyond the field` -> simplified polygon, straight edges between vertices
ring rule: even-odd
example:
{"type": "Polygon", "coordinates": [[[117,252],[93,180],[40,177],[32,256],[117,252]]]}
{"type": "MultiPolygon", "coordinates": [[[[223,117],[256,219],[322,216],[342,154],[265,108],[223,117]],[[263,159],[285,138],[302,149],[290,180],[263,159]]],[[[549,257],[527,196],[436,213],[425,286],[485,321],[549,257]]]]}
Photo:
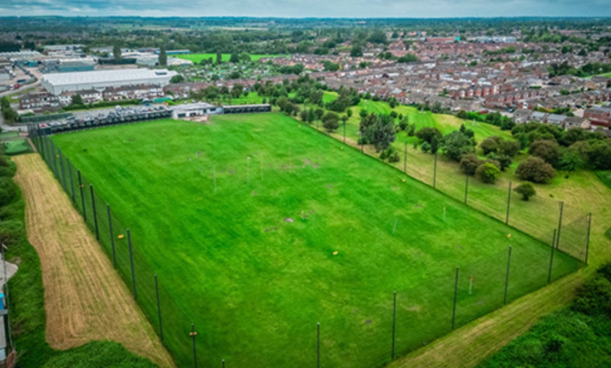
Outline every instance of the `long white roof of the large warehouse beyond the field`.
{"type": "Polygon", "coordinates": [[[46,81],[48,84],[52,84],[53,86],[82,83],[121,83],[135,79],[155,80],[158,78],[171,78],[176,74],[176,72],[165,69],[94,70],[93,72],[45,74],[42,77],[42,81],[46,81]]]}

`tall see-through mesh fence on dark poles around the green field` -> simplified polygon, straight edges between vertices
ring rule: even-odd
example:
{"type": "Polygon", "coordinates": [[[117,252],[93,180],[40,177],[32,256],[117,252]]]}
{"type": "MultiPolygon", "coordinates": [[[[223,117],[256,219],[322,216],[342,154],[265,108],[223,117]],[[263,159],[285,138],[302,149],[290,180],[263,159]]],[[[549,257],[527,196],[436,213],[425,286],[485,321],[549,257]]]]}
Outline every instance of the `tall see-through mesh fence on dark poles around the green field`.
{"type": "MultiPolygon", "coordinates": [[[[464,182],[457,185],[450,179],[458,175],[452,172],[452,166],[438,157],[435,169],[435,157],[429,155],[425,159],[431,160],[431,175],[411,171],[409,165],[407,173],[425,178],[423,181],[449,197],[527,232],[549,247],[512,245],[509,234],[506,250],[474,263],[431,269],[416,283],[394,294],[382,292],[366,296],[375,301],[368,303],[367,309],[346,307],[326,312],[328,315],[308,317],[311,323],[301,326],[285,326],[284,321],[278,321],[270,327],[265,321],[256,322],[261,328],[261,341],[257,342],[260,353],[256,357],[248,356],[240,354],[244,342],[239,331],[208,329],[208,316],[198,310],[184,310],[176,303],[173,295],[189,292],[188,280],[180,290],[169,290],[166,285],[176,287],[176,282],[166,283],[157,277],[150,259],[139,247],[138,232],[131,232],[129,224],[122,223],[115,215],[115,211],[121,210],[111,208],[98,195],[95,183],[87,180],[53,145],[50,137],[36,132],[32,128],[30,137],[38,152],[82,214],[178,367],[217,367],[223,360],[227,367],[315,364],[318,367],[378,367],[574,272],[581,263],[573,258],[582,262],[587,259],[589,215],[552,199],[535,197],[530,202],[522,201],[511,191],[509,183],[506,190],[499,190],[464,177],[464,182]],[[533,224],[534,218],[537,225],[533,224]],[[428,305],[437,308],[427,308],[428,305]],[[337,313],[350,318],[338,318],[337,313]],[[291,339],[286,339],[282,346],[265,339],[266,334],[287,331],[291,339]],[[223,341],[223,349],[212,349],[213,341],[223,341]],[[300,346],[301,353],[296,353],[291,346],[300,346]],[[354,354],[355,351],[359,353],[354,354]]],[[[223,308],[223,305],[214,308],[223,308]]]]}

